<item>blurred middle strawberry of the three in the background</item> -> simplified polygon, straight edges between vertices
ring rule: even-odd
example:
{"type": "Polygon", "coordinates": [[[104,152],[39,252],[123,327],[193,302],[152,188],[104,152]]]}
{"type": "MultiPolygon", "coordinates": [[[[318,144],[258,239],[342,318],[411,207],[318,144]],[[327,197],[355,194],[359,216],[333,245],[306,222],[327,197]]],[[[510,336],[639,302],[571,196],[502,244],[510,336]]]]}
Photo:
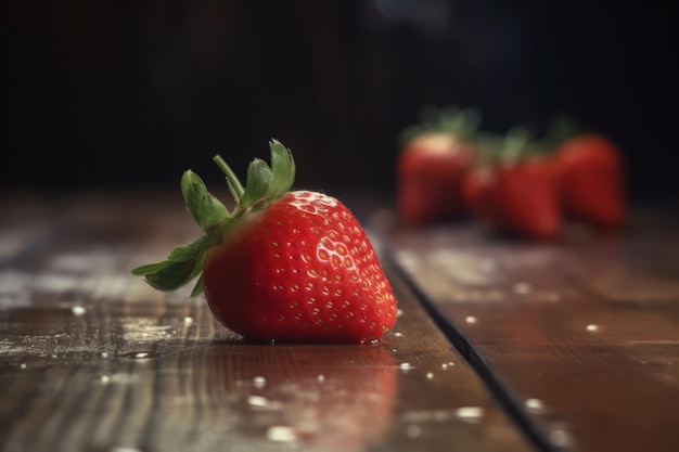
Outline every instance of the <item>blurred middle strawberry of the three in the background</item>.
{"type": "Polygon", "coordinates": [[[531,152],[524,132],[491,140],[463,182],[472,211],[492,227],[528,238],[549,240],[561,228],[561,209],[552,162],[531,152]]]}

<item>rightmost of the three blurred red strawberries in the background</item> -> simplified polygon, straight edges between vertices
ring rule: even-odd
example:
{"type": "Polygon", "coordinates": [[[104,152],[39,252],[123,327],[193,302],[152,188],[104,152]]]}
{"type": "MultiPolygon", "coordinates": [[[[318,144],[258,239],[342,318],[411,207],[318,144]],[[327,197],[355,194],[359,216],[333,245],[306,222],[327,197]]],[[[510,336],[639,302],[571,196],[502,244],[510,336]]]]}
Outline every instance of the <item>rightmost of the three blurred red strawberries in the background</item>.
{"type": "Polygon", "coordinates": [[[604,228],[625,217],[625,175],[620,151],[601,134],[580,133],[554,151],[561,202],[571,217],[604,228]]]}

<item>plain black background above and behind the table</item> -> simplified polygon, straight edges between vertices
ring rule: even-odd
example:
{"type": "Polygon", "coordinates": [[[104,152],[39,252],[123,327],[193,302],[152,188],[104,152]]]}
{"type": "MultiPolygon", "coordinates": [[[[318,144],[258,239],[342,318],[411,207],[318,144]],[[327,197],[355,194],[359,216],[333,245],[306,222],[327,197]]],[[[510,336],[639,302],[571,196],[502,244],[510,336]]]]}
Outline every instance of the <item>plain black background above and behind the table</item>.
{"type": "Polygon", "coordinates": [[[631,195],[679,193],[674,2],[10,1],[2,188],[208,184],[280,139],[297,186],[392,192],[421,106],[483,128],[567,114],[624,150],[631,195]]]}

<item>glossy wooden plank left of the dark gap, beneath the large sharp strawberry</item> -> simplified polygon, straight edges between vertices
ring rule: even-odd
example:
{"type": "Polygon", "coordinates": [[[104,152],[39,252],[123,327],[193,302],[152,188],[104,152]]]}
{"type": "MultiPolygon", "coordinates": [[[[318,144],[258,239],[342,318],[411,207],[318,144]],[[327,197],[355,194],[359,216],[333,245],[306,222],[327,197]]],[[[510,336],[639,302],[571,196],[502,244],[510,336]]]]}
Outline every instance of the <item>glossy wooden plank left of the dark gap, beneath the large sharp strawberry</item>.
{"type": "Polygon", "coordinates": [[[49,233],[0,264],[0,450],[535,450],[393,273],[379,346],[244,344],[202,298],[130,276],[197,233],[175,199],[31,214],[49,233]]]}

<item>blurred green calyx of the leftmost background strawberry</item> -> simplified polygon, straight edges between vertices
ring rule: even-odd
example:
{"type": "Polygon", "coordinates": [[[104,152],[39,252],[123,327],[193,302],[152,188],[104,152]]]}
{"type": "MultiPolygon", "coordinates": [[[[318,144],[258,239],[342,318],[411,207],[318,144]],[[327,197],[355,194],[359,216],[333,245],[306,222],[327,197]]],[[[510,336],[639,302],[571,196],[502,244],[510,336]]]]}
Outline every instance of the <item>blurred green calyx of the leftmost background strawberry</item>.
{"type": "Polygon", "coordinates": [[[475,108],[426,106],[420,112],[420,120],[399,134],[401,146],[423,134],[434,133],[447,134],[453,140],[471,140],[481,125],[481,114],[475,108]]]}

